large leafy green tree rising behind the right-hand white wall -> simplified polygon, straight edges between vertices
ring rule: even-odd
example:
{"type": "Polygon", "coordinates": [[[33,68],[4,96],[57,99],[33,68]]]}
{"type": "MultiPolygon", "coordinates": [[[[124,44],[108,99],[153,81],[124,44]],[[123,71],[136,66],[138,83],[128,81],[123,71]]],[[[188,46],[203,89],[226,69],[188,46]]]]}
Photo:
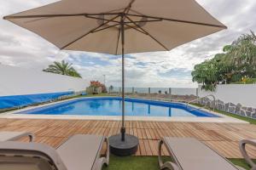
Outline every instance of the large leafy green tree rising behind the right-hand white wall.
{"type": "Polygon", "coordinates": [[[253,83],[256,78],[256,37],[253,31],[241,35],[223,48],[222,54],[195,65],[193,82],[214,91],[217,84],[253,83]]]}

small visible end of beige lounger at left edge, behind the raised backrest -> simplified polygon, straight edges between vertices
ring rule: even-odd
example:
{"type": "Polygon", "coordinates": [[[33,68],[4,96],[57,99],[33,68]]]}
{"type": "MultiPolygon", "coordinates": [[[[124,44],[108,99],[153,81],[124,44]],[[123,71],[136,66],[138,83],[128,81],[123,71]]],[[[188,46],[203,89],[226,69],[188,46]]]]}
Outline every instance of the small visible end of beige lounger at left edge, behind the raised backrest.
{"type": "Polygon", "coordinates": [[[32,142],[35,137],[32,133],[26,132],[0,132],[0,142],[18,140],[23,137],[28,137],[29,141],[32,142]]]}

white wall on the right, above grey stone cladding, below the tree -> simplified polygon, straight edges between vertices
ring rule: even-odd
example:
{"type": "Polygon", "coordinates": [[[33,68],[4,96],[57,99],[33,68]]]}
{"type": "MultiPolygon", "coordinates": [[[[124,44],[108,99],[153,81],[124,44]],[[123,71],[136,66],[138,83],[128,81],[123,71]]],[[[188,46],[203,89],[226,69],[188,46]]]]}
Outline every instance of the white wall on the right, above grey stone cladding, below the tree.
{"type": "Polygon", "coordinates": [[[201,90],[198,88],[198,95],[204,97],[207,94],[213,94],[216,99],[224,103],[240,103],[243,106],[256,108],[256,84],[226,84],[218,85],[215,92],[201,90]]]}

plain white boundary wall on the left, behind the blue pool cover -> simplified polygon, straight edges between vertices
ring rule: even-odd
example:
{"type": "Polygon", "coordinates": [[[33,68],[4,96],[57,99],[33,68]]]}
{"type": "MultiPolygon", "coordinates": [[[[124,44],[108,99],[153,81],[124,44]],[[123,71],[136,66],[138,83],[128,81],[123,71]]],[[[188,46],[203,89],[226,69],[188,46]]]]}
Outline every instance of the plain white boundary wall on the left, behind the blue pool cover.
{"type": "Polygon", "coordinates": [[[81,78],[0,65],[0,96],[79,92],[88,86],[81,78]]]}

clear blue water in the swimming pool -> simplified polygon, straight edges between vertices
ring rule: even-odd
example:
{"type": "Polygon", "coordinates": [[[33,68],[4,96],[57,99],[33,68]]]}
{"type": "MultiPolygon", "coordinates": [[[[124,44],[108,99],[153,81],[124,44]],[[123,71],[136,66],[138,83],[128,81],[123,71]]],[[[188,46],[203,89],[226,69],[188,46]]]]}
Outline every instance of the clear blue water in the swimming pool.
{"type": "MultiPolygon", "coordinates": [[[[62,102],[22,111],[19,114],[37,115],[89,115],[89,116],[120,116],[122,101],[120,98],[84,98],[62,102]]],[[[180,103],[167,103],[145,99],[125,99],[125,116],[189,116],[218,117],[211,113],[194,110],[180,103]]]]}

